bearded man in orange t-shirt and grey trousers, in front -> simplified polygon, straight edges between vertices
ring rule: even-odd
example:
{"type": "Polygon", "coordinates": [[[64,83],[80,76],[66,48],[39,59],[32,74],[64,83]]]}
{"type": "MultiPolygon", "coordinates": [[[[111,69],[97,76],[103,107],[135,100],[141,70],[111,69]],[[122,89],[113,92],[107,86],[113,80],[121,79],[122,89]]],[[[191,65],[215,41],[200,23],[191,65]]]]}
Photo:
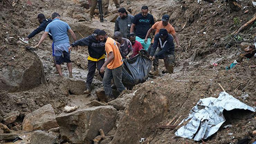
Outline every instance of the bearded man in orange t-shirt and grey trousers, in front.
{"type": "Polygon", "coordinates": [[[125,86],[122,83],[122,56],[119,52],[120,44],[114,39],[107,36],[106,32],[101,30],[98,33],[100,41],[105,42],[105,50],[107,54],[107,61],[102,65],[100,72],[104,73],[103,85],[105,94],[108,96],[108,101],[113,100],[114,96],[111,88],[111,80],[117,87],[117,91],[121,93],[125,90],[125,86]]]}

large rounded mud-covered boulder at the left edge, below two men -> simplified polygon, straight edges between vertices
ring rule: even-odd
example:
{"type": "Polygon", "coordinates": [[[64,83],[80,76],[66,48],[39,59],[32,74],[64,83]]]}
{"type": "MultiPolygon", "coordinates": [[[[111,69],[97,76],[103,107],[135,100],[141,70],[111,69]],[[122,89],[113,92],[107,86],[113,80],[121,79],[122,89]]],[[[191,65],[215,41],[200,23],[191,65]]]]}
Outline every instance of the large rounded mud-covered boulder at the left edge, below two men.
{"type": "Polygon", "coordinates": [[[18,92],[45,82],[42,62],[36,53],[21,48],[1,52],[0,91],[18,92]]]}

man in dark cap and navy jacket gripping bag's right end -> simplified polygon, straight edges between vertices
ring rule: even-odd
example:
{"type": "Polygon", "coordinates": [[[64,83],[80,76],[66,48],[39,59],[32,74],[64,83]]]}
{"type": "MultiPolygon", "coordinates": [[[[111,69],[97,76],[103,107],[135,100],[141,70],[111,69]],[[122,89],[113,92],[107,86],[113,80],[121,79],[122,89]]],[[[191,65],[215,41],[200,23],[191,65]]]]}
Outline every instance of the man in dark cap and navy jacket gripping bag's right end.
{"type": "Polygon", "coordinates": [[[166,29],[160,29],[155,35],[154,44],[150,51],[150,59],[153,60],[154,71],[150,74],[159,75],[158,59],[164,59],[164,65],[168,73],[173,73],[175,64],[174,43],[171,34],[166,29]]]}

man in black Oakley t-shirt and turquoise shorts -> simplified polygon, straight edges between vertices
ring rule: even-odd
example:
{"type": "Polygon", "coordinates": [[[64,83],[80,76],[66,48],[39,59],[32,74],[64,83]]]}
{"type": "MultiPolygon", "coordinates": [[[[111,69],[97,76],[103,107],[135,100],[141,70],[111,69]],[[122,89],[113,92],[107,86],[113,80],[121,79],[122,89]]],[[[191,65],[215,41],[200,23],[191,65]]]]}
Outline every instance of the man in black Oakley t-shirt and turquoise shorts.
{"type": "Polygon", "coordinates": [[[148,7],[141,7],[141,12],[134,16],[134,20],[131,24],[130,33],[134,32],[136,34],[136,41],[140,42],[145,50],[148,50],[148,47],[151,43],[151,39],[148,38],[147,43],[144,39],[146,37],[147,31],[154,24],[154,18],[151,14],[148,13],[148,7]]]}

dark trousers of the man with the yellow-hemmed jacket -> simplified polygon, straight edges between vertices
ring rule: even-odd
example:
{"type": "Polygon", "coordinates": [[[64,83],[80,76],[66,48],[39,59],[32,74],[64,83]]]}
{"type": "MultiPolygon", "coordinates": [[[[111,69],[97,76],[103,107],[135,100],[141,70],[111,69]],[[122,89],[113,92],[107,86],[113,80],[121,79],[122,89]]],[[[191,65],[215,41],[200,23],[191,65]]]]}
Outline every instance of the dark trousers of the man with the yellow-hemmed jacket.
{"type": "MultiPolygon", "coordinates": [[[[100,73],[100,68],[101,66],[104,64],[105,59],[101,59],[99,61],[90,61],[88,60],[88,74],[87,74],[87,78],[86,78],[86,83],[87,84],[92,84],[92,79],[93,76],[95,74],[95,70],[96,70],[96,65],[97,65],[97,69],[99,70],[100,73]]],[[[100,73],[101,78],[103,78],[104,74],[100,73]]]]}

